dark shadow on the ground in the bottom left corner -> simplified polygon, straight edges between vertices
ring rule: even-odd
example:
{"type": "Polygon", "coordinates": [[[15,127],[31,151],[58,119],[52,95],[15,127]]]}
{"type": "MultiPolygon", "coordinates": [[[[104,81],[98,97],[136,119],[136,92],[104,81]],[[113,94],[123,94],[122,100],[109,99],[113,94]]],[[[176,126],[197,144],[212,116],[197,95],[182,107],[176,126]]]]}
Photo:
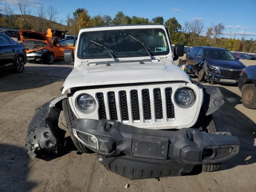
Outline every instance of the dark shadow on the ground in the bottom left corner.
{"type": "Polygon", "coordinates": [[[0,191],[27,192],[36,187],[28,181],[32,164],[25,148],[0,144],[0,191]]]}

